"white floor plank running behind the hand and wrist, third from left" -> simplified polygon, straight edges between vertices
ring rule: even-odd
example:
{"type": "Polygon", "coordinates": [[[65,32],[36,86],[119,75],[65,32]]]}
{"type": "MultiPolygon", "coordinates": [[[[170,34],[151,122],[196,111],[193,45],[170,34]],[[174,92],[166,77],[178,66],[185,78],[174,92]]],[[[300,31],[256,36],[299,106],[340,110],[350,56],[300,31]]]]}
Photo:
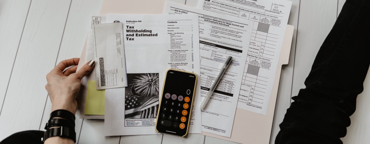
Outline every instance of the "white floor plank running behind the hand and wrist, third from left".
{"type": "MultiPolygon", "coordinates": [[[[85,44],[85,39],[90,30],[90,15],[100,12],[103,0],[72,0],[70,10],[68,12],[67,21],[63,32],[60,49],[55,64],[70,59],[80,57],[82,48],[85,44]]],[[[44,126],[49,120],[51,113],[51,102],[47,98],[43,118],[40,124],[40,130],[44,130],[44,126]]],[[[83,119],[79,117],[79,110],[76,113],[76,139],[80,136],[80,129],[83,119]]],[[[77,141],[78,143],[78,141],[77,141]]]]}

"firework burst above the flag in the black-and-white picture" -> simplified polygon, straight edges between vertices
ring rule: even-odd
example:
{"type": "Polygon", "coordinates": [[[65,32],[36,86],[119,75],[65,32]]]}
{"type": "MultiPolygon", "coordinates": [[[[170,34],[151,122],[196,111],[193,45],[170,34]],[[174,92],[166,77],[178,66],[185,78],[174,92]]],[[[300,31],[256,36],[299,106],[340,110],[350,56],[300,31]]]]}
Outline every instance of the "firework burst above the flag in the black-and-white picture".
{"type": "Polygon", "coordinates": [[[159,74],[147,73],[135,77],[132,82],[135,83],[135,90],[138,94],[144,96],[158,96],[159,95],[159,74]]]}

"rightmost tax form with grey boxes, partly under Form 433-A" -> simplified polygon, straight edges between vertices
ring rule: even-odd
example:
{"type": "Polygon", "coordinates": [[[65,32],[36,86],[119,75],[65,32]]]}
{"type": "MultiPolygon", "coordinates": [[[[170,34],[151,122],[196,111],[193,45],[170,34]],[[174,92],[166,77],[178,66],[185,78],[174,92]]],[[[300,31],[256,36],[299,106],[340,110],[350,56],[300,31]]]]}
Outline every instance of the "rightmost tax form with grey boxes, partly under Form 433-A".
{"type": "Polygon", "coordinates": [[[254,22],[238,108],[267,114],[292,1],[199,0],[198,8],[254,22]]]}

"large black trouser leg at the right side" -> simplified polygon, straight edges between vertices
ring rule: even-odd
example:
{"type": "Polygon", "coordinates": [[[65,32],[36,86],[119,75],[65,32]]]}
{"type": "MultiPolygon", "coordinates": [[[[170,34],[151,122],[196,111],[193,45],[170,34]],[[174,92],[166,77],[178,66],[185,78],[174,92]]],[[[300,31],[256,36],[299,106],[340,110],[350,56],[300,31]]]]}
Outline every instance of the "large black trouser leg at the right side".
{"type": "Polygon", "coordinates": [[[369,0],[347,0],[292,99],[276,144],[342,144],[370,64],[369,0]]]}

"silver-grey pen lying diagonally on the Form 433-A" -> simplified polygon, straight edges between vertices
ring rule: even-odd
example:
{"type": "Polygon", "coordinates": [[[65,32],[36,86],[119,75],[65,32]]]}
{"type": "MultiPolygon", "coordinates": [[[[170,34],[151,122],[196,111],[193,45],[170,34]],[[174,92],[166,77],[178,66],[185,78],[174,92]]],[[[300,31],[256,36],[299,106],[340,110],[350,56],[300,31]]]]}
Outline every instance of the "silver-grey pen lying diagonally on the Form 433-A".
{"type": "Polygon", "coordinates": [[[201,109],[204,109],[204,107],[207,105],[207,102],[208,102],[209,98],[211,98],[211,95],[212,95],[213,91],[216,89],[218,82],[221,80],[221,77],[222,77],[223,73],[225,73],[226,69],[228,68],[229,64],[231,63],[231,60],[232,60],[231,56],[226,57],[225,63],[223,64],[220,73],[217,75],[215,82],[213,82],[212,87],[209,89],[209,91],[206,95],[206,98],[204,98],[204,100],[201,104],[201,109]]]}

